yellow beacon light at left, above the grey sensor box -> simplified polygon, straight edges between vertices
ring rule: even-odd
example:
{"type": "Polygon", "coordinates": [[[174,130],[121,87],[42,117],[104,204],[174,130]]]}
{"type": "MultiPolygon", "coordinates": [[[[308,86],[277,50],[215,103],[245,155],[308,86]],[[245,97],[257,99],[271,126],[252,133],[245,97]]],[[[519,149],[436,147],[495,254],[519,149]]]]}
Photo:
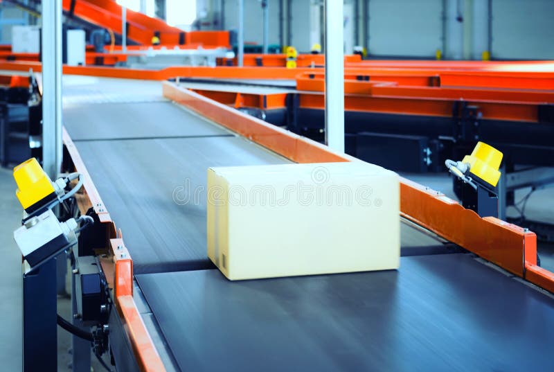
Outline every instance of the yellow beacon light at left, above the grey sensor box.
{"type": "Polygon", "coordinates": [[[50,177],[42,170],[35,158],[16,166],[13,169],[13,177],[17,184],[15,195],[28,213],[39,209],[56,197],[50,177]]]}

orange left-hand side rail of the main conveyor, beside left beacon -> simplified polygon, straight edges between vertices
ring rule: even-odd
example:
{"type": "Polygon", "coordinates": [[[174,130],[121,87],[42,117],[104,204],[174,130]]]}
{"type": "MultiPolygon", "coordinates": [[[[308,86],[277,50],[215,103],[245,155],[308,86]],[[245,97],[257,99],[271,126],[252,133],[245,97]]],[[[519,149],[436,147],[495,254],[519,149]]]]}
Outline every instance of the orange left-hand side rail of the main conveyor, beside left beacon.
{"type": "Polygon", "coordinates": [[[125,332],[129,344],[132,346],[137,364],[143,372],[166,371],[133,299],[133,263],[131,255],[127,251],[123,239],[116,238],[116,236],[120,236],[120,233],[116,233],[116,226],[111,220],[87,167],[84,166],[84,162],[65,128],[62,137],[75,170],[80,172],[84,179],[84,191],[94,211],[98,214],[100,223],[106,224],[109,231],[110,239],[109,242],[106,242],[106,245],[111,260],[101,260],[100,264],[107,274],[108,283],[111,284],[114,290],[116,310],[125,323],[125,332]],[[109,277],[109,273],[114,276],[109,277]]]}

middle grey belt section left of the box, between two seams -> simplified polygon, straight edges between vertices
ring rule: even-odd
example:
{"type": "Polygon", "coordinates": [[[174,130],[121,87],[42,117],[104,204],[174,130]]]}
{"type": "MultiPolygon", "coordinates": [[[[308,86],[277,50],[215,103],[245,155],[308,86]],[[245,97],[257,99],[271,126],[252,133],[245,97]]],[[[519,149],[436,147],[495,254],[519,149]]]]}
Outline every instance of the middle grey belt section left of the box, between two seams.
{"type": "Polygon", "coordinates": [[[206,256],[208,167],[287,162],[237,136],[75,144],[123,231],[136,273],[211,267],[206,256]]]}

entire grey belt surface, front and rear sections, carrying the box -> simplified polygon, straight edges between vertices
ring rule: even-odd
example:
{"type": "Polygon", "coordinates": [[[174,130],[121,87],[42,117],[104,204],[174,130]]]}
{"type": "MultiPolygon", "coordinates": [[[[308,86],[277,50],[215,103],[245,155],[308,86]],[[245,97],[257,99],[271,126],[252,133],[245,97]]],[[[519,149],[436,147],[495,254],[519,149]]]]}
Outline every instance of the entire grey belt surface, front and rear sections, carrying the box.
{"type": "MultiPolygon", "coordinates": [[[[550,370],[554,301],[468,254],[227,281],[206,257],[206,170],[287,159],[164,101],[73,104],[64,125],[178,369],[550,370]]],[[[404,251],[441,244],[403,226],[404,251]]]]}

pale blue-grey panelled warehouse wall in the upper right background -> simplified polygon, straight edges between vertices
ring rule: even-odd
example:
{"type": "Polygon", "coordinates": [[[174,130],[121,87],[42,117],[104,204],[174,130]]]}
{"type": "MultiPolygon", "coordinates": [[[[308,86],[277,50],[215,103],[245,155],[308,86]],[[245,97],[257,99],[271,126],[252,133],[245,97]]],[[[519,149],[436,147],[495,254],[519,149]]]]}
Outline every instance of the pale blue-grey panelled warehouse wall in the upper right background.
{"type": "MultiPolygon", "coordinates": [[[[224,28],[238,26],[237,0],[198,1],[211,1],[216,12],[217,4],[222,3],[224,28]]],[[[283,33],[283,44],[309,51],[320,34],[321,15],[314,8],[321,6],[322,1],[269,0],[269,42],[279,44],[283,33]],[[282,22],[280,3],[284,8],[282,22]]],[[[448,59],[479,60],[485,51],[497,59],[554,59],[551,24],[554,0],[346,0],[346,3],[352,4],[354,10],[353,17],[348,19],[354,30],[345,33],[349,38],[345,41],[347,51],[352,45],[363,44],[376,57],[434,58],[440,49],[448,59]]],[[[244,19],[245,40],[261,44],[260,0],[244,0],[244,19]]]]}

